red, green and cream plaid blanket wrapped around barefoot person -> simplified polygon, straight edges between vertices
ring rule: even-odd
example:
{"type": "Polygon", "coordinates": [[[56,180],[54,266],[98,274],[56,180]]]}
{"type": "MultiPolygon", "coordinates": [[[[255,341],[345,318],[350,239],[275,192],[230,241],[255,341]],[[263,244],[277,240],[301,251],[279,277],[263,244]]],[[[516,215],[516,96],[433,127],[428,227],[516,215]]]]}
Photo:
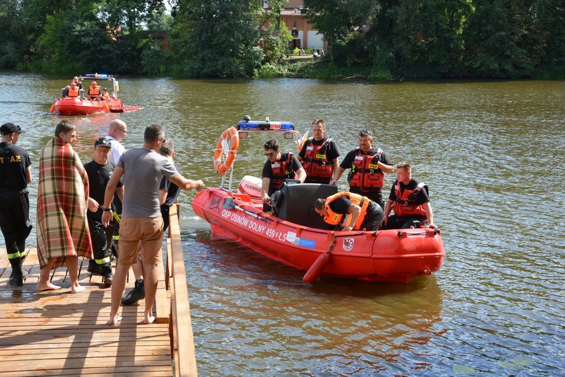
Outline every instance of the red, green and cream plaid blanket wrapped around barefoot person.
{"type": "Polygon", "coordinates": [[[92,258],[92,242],[86,220],[88,176],[71,144],[51,139],[41,151],[37,192],[37,252],[44,268],[65,256],[92,258]]]}

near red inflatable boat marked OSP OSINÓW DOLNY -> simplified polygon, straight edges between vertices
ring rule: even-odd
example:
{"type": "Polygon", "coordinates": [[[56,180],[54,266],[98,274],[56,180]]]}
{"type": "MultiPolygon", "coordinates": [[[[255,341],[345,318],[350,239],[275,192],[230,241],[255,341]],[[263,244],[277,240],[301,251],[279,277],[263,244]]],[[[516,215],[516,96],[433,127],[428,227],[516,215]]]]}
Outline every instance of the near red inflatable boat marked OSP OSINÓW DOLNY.
{"type": "MultiPolygon", "coordinates": [[[[258,131],[279,131],[286,134],[286,139],[294,137],[299,146],[303,142],[290,123],[244,119],[235,134],[242,138],[258,131]]],[[[229,149],[233,142],[222,144],[225,152],[233,152],[229,149]]],[[[221,161],[215,165],[218,170],[221,161]]],[[[407,283],[413,277],[432,274],[444,262],[440,230],[331,230],[312,204],[318,198],[335,194],[337,187],[313,183],[283,183],[279,194],[271,197],[276,201],[272,203],[274,212],[265,213],[260,203],[260,179],[246,176],[237,191],[232,191],[233,169],[231,165],[228,168],[232,170],[228,188],[224,187],[223,179],[222,187],[199,192],[192,202],[194,212],[210,223],[212,233],[240,242],[273,260],[307,270],[305,282],[312,282],[321,274],[407,283]]]]}

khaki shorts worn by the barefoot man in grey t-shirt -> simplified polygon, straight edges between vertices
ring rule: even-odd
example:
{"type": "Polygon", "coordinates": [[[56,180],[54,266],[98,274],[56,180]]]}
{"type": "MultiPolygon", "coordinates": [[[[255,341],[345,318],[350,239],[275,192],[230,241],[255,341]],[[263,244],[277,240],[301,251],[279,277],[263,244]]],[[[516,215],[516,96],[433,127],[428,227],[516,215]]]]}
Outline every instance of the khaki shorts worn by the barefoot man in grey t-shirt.
{"type": "Polygon", "coordinates": [[[131,266],[137,262],[137,244],[140,241],[143,247],[141,262],[157,265],[163,247],[162,217],[121,217],[119,265],[131,266]]]}

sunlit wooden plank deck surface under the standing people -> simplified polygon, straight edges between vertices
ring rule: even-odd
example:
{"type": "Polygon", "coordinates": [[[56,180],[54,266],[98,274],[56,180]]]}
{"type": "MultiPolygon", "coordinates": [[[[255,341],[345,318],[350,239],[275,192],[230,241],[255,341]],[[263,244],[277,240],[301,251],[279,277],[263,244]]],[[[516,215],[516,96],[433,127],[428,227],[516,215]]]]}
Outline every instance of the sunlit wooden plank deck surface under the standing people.
{"type": "MultiPolygon", "coordinates": [[[[144,325],[141,300],[141,305],[121,306],[122,321],[107,326],[111,288],[99,276],[89,282],[88,260],[79,275],[86,290],[72,294],[66,268],[57,269],[52,280],[61,290],[37,292],[36,249],[28,250],[23,287],[8,284],[6,249],[0,255],[0,375],[173,375],[168,323],[144,325]]],[[[130,271],[126,291],[133,283],[130,271]]]]}

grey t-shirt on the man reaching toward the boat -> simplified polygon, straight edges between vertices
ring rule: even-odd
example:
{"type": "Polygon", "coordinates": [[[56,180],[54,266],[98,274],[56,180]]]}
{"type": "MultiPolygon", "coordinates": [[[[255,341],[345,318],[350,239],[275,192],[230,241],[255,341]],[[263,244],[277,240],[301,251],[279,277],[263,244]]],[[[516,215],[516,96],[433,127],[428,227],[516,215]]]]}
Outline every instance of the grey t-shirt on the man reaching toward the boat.
{"type": "Polygon", "coordinates": [[[153,150],[132,148],[120,156],[118,166],[124,169],[124,203],[122,216],[161,216],[159,183],[163,176],[171,179],[177,170],[172,161],[153,150]]]}

